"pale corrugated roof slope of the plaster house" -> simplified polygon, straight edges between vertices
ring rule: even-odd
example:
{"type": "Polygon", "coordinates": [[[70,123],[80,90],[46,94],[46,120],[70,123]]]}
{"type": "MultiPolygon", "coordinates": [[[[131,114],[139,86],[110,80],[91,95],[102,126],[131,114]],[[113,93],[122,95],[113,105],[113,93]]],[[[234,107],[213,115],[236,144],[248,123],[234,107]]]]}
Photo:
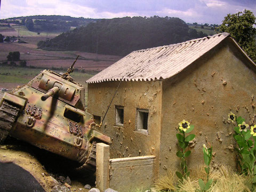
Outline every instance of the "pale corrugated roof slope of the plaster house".
{"type": "Polygon", "coordinates": [[[228,36],[228,33],[222,33],[183,43],[133,51],[86,82],[120,81],[122,78],[122,81],[154,81],[170,78],[228,36]]]}

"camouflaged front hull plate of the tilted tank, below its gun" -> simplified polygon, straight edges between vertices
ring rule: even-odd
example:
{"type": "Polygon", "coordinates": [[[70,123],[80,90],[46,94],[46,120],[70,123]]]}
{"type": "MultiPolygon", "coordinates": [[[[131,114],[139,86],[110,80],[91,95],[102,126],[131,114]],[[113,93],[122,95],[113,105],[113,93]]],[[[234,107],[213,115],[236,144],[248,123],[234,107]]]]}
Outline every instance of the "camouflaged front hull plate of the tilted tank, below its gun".
{"type": "Polygon", "coordinates": [[[79,151],[88,148],[90,124],[93,122],[91,115],[53,97],[42,101],[44,93],[33,87],[24,86],[14,94],[22,95],[28,102],[10,134],[79,161],[79,151]]]}

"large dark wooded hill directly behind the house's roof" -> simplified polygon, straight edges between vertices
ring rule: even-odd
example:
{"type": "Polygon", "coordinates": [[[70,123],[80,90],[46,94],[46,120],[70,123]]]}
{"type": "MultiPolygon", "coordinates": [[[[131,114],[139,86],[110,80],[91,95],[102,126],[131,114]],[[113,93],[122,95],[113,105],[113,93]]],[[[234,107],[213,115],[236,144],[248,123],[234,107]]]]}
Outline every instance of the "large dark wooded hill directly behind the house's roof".
{"type": "Polygon", "coordinates": [[[44,50],[72,50],[99,54],[126,55],[134,50],[169,45],[207,36],[191,29],[179,18],[125,17],[101,19],[87,26],[41,41],[44,50]]]}

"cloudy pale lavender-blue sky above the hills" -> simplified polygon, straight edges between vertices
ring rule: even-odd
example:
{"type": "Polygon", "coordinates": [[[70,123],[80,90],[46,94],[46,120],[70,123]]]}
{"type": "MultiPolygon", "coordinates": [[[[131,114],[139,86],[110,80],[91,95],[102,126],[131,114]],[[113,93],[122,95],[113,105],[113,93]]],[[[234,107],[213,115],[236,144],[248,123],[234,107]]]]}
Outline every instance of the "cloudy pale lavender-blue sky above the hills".
{"type": "Polygon", "coordinates": [[[256,0],[0,0],[0,19],[29,15],[84,18],[178,17],[185,22],[220,24],[228,13],[251,10],[256,0]]]}

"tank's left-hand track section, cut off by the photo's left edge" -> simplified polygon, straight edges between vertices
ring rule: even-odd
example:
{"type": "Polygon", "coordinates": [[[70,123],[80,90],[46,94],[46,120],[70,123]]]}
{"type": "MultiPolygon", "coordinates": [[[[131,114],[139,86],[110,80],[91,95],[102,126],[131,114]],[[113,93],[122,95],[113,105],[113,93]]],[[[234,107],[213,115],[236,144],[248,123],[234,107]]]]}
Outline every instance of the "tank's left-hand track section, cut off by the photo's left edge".
{"type": "Polygon", "coordinates": [[[0,106],[0,143],[2,143],[12,129],[18,114],[19,108],[10,102],[3,101],[0,106]]]}

